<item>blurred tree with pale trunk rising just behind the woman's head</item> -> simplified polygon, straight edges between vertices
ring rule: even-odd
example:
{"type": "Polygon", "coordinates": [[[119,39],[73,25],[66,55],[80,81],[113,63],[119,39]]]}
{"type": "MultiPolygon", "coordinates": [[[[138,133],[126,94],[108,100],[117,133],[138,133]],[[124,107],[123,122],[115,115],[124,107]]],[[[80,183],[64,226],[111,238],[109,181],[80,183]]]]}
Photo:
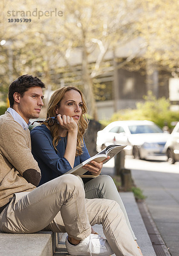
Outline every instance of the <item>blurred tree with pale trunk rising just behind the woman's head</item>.
{"type": "Polygon", "coordinates": [[[79,61],[76,63],[81,65],[80,80],[90,114],[96,118],[94,79],[106,70],[108,72],[110,64],[106,61],[107,54],[110,53],[110,58],[113,58],[117,42],[125,44],[133,38],[135,31],[131,13],[134,6],[127,0],[66,0],[65,4],[66,21],[61,53],[64,49],[64,60],[75,72],[70,57],[78,50],[79,61]]]}

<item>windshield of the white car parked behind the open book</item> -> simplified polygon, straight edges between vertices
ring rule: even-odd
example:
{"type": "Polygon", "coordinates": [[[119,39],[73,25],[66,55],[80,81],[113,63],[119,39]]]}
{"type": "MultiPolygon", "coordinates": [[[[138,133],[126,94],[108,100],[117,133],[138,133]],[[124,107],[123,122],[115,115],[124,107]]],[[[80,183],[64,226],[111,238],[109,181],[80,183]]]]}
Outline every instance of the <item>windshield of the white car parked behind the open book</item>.
{"type": "Polygon", "coordinates": [[[157,125],[129,125],[128,127],[131,134],[163,132],[157,125]]]}

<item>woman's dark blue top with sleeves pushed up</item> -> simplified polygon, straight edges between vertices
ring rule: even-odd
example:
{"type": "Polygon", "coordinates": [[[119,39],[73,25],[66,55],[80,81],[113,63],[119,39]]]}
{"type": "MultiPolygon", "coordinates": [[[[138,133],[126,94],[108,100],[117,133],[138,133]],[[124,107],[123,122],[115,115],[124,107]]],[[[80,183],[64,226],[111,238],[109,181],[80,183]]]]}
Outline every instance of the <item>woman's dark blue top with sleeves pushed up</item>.
{"type": "MultiPolygon", "coordinates": [[[[42,178],[39,186],[62,174],[68,172],[72,167],[64,157],[67,143],[67,136],[61,137],[57,145],[57,150],[52,144],[52,135],[46,125],[36,126],[31,130],[32,154],[38,162],[42,178]]],[[[74,167],[90,157],[84,143],[83,153],[75,157],[74,167]]]]}

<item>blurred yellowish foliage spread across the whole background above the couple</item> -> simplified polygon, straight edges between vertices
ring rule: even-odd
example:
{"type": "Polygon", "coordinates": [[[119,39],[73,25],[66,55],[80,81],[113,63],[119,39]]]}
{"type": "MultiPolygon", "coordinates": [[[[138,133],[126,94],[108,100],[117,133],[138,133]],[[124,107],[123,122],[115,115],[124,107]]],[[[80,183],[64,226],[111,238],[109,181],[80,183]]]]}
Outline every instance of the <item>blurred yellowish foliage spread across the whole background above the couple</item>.
{"type": "MultiPolygon", "coordinates": [[[[21,4],[6,0],[0,2],[0,9],[13,6],[17,10],[33,10],[37,3],[41,9],[59,6],[58,0],[24,0],[21,4]]],[[[52,19],[39,19],[36,23],[23,24],[21,31],[12,23],[4,29],[4,13],[0,12],[1,101],[6,102],[11,82],[29,73],[40,77],[47,89],[55,90],[64,84],[78,86],[86,96],[90,116],[96,118],[95,101],[111,99],[113,90],[112,84],[99,83],[98,76],[114,72],[115,68],[139,71],[142,75],[146,72],[150,75],[154,69],[166,70],[178,76],[178,0],[65,0],[64,5],[61,27],[52,19]],[[116,58],[114,67],[108,55],[114,59],[119,46],[135,40],[138,40],[136,51],[116,58]]],[[[141,114],[154,119],[155,114],[144,111],[150,107],[154,109],[154,105],[138,104],[132,116],[139,118],[141,114]]],[[[131,111],[122,112],[127,118],[131,111]]]]}

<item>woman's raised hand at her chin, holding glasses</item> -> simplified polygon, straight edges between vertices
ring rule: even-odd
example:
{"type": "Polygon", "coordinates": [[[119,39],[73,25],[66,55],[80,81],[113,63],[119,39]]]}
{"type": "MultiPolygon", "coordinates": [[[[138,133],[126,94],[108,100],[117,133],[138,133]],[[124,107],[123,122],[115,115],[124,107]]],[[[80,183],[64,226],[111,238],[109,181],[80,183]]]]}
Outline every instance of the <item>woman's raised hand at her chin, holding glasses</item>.
{"type": "Polygon", "coordinates": [[[61,128],[65,129],[67,132],[77,132],[78,131],[78,125],[74,121],[72,117],[61,114],[57,115],[57,120],[61,126],[61,128]]]}

